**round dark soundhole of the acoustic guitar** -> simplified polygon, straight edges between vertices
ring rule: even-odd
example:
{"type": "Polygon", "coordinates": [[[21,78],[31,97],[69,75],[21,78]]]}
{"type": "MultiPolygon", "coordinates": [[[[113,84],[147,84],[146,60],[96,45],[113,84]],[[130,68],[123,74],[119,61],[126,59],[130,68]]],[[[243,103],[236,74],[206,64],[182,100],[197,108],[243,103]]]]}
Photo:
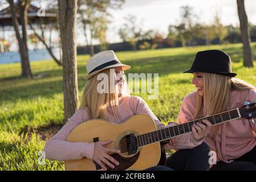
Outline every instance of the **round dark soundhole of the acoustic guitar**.
{"type": "Polygon", "coordinates": [[[134,134],[128,134],[122,137],[119,141],[119,150],[122,155],[133,155],[137,153],[138,144],[134,134]]]}

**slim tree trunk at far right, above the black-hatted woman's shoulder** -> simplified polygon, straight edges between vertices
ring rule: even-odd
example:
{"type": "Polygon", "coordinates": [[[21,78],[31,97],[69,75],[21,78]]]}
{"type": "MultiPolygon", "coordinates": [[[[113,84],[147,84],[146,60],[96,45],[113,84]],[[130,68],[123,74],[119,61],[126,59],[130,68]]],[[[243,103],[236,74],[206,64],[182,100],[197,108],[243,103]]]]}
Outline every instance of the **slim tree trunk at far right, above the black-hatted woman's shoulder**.
{"type": "Polygon", "coordinates": [[[253,54],[250,47],[250,32],[248,28],[248,20],[245,12],[244,0],[237,0],[238,16],[240,21],[240,30],[243,43],[243,65],[245,67],[253,67],[253,54]]]}

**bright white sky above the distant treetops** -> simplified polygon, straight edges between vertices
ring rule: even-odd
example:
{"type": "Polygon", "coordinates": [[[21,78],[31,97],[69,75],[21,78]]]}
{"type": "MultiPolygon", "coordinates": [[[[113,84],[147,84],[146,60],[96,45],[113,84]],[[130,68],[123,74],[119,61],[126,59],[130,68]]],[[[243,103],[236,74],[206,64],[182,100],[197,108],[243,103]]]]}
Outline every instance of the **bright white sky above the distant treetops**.
{"type": "MultiPolygon", "coordinates": [[[[156,30],[167,34],[170,24],[180,22],[180,7],[188,5],[198,15],[198,22],[210,24],[218,12],[224,25],[239,26],[236,0],[126,0],[121,10],[112,10],[112,23],[109,25],[107,39],[110,43],[120,42],[117,34],[124,23],[124,17],[135,15],[142,20],[143,30],[156,30]]],[[[256,24],[256,0],[245,0],[248,19],[256,24]]],[[[82,41],[82,39],[80,39],[82,41]]]]}

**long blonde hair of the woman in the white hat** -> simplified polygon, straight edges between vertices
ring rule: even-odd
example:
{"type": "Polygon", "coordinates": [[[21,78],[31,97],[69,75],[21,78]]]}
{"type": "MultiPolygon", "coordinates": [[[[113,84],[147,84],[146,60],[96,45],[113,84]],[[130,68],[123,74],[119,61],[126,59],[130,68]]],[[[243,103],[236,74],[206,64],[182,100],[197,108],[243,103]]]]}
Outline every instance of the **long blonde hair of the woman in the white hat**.
{"type": "MultiPolygon", "coordinates": [[[[112,68],[113,69],[113,68],[112,68]]],[[[110,69],[104,69],[100,73],[92,76],[87,80],[86,85],[83,89],[82,101],[80,107],[88,107],[91,111],[91,119],[105,119],[108,120],[107,109],[109,109],[112,114],[119,115],[119,90],[116,84],[111,84],[111,73],[110,69]],[[97,92],[97,86],[102,80],[98,80],[97,76],[100,73],[105,73],[107,75],[107,80],[103,80],[104,85],[107,86],[106,93],[97,92]]],[[[120,97],[129,96],[128,85],[126,80],[124,80],[123,91],[120,97]]]]}

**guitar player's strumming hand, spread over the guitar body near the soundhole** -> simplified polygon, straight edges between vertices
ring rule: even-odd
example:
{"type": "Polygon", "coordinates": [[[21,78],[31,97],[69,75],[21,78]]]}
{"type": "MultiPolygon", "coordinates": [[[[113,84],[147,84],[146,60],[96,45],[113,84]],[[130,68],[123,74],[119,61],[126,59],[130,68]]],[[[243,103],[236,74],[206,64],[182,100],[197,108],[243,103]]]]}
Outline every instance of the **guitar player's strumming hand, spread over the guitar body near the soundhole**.
{"type": "Polygon", "coordinates": [[[101,168],[104,170],[107,170],[107,167],[105,167],[105,164],[107,164],[111,168],[115,168],[113,164],[116,164],[116,166],[119,165],[119,162],[112,158],[112,156],[108,155],[108,152],[113,152],[113,153],[120,153],[119,150],[115,148],[107,148],[104,147],[105,144],[111,143],[111,140],[107,141],[102,141],[102,142],[95,142],[94,144],[94,156],[92,157],[92,160],[94,160],[96,163],[100,165],[101,168]],[[112,163],[110,163],[111,161],[112,163]]]}

